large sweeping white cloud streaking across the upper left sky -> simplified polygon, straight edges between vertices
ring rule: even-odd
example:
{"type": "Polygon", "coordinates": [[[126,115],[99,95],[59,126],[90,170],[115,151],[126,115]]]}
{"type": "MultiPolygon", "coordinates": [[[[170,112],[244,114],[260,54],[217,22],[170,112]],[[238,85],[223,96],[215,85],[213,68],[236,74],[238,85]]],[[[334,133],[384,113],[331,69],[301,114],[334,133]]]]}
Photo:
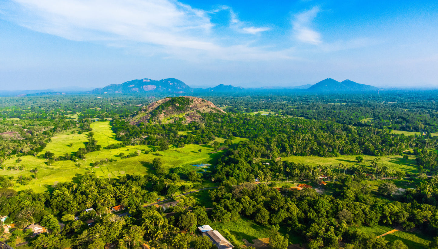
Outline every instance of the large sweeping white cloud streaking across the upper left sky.
{"type": "MultiPolygon", "coordinates": [[[[32,30],[77,41],[103,42],[108,46],[130,46],[133,42],[154,53],[208,54],[217,59],[245,51],[249,57],[264,60],[272,48],[249,45],[243,34],[255,35],[267,27],[247,25],[232,8],[205,11],[176,0],[7,0],[14,13],[2,14],[32,30]],[[229,28],[239,36],[217,33],[212,14],[230,11],[229,28]],[[223,41],[230,41],[228,44],[223,41]],[[182,51],[185,50],[185,51],[182,51]],[[260,56],[254,56],[254,54],[260,56]]],[[[231,32],[230,31],[230,32],[231,32]]],[[[246,35],[247,36],[247,35],[246,35]]],[[[273,52],[276,54],[277,52],[273,52]]],[[[243,56],[245,58],[245,56],[243,56]]]]}

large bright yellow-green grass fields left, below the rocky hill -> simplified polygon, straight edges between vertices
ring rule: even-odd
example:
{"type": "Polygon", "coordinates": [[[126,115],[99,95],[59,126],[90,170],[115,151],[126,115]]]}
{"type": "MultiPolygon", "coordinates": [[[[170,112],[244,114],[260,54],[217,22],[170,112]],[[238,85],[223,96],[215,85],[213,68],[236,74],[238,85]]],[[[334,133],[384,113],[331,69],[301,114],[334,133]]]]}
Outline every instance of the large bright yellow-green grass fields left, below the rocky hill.
{"type": "MultiPolygon", "coordinates": [[[[115,134],[110,128],[109,122],[94,122],[90,125],[95,133],[94,138],[97,143],[102,147],[109,144],[118,143],[115,139],[115,134]]],[[[218,138],[216,141],[223,142],[225,139],[218,138]]],[[[233,140],[233,143],[242,141],[243,139],[237,138],[233,140]]],[[[52,138],[46,148],[39,153],[43,155],[46,151],[55,153],[55,156],[62,156],[65,153],[71,153],[77,151],[80,147],[85,147],[86,142],[85,134],[71,134],[71,132],[64,132],[52,138]],[[68,144],[73,143],[73,146],[69,147],[68,144]]],[[[188,167],[191,170],[195,170],[195,166],[190,164],[214,164],[215,160],[220,156],[222,151],[217,153],[213,152],[212,146],[207,145],[186,145],[184,148],[175,148],[170,146],[166,151],[160,151],[161,156],[156,156],[154,153],[145,154],[140,153],[138,157],[131,157],[127,159],[120,159],[117,155],[123,152],[125,155],[136,152],[137,150],[152,150],[152,146],[127,146],[120,149],[101,149],[85,155],[85,160],[79,160],[80,167],[76,166],[73,161],[58,161],[52,165],[46,165],[46,160],[42,157],[25,156],[21,157],[20,163],[15,162],[15,158],[6,160],[4,165],[9,166],[24,166],[23,171],[5,170],[1,171],[2,175],[14,176],[16,180],[19,176],[32,176],[33,173],[30,170],[38,168],[38,179],[33,179],[28,185],[15,184],[15,190],[34,189],[36,192],[41,192],[56,184],[57,182],[74,181],[87,171],[95,172],[99,177],[117,177],[124,174],[145,174],[152,169],[152,160],[155,157],[160,157],[163,161],[163,166],[166,169],[173,167],[188,167]],[[202,149],[199,153],[198,149],[202,149]],[[108,162],[102,164],[99,167],[91,167],[90,164],[102,159],[114,159],[117,162],[108,162]]],[[[212,183],[211,183],[212,184],[212,183]]],[[[206,181],[205,186],[211,185],[206,181]]]]}

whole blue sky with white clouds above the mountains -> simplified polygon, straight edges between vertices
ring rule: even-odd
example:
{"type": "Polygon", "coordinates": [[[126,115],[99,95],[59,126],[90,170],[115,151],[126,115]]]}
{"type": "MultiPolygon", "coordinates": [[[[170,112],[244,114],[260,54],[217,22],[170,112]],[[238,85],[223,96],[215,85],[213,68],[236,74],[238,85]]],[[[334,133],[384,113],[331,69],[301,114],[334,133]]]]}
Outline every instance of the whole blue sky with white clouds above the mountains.
{"type": "Polygon", "coordinates": [[[2,90],[437,86],[437,1],[2,0],[2,90]]]}

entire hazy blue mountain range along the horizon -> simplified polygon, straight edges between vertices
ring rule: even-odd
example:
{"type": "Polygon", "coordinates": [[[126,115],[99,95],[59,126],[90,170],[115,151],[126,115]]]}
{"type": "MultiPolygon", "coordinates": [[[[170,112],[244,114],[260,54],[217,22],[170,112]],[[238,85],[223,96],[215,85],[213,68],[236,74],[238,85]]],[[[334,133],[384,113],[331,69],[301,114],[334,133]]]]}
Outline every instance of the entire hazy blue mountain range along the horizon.
{"type": "Polygon", "coordinates": [[[244,89],[240,86],[220,84],[210,88],[192,88],[176,78],[166,78],[153,80],[149,78],[136,79],[122,84],[111,84],[103,88],[89,89],[84,88],[64,88],[50,90],[25,90],[25,91],[0,91],[0,96],[41,96],[58,94],[147,94],[165,93],[180,94],[186,93],[238,93],[238,92],[367,92],[377,91],[377,87],[372,85],[359,84],[350,80],[338,82],[332,78],[327,78],[314,85],[300,85],[290,87],[265,86],[261,88],[244,89]]]}

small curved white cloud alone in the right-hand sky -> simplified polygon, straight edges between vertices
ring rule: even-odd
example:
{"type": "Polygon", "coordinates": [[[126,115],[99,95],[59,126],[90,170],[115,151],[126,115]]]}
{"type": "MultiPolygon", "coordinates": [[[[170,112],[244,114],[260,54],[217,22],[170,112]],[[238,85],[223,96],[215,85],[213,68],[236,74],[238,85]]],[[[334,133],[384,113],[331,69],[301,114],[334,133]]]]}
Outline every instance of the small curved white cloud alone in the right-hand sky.
{"type": "Polygon", "coordinates": [[[311,21],[320,11],[319,7],[313,7],[311,10],[304,11],[295,15],[292,21],[294,36],[303,43],[318,45],[322,43],[321,34],[311,29],[311,21]]]}

